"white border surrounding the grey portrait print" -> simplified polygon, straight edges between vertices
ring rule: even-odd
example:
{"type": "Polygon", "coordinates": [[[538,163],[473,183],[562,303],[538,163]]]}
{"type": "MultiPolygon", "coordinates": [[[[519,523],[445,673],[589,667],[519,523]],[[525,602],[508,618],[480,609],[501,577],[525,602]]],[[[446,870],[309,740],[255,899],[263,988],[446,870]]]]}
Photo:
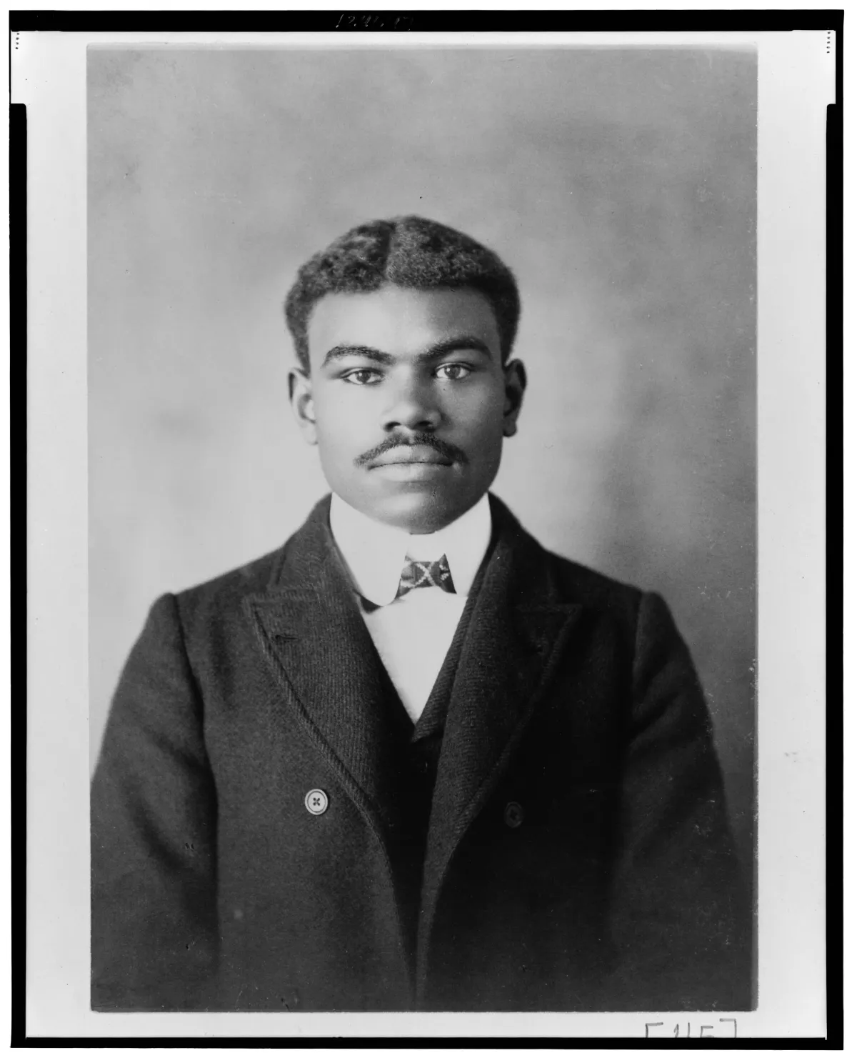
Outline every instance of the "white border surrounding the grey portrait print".
{"type": "Polygon", "coordinates": [[[757,49],[758,1008],[737,1019],[740,1036],[825,1034],[825,120],[836,57],[825,40],[821,31],[19,35],[12,99],[28,106],[29,141],[28,1036],[644,1037],[657,1022],[690,1023],[700,1036],[729,1017],[89,1010],[86,48],[141,43],[757,49]]]}

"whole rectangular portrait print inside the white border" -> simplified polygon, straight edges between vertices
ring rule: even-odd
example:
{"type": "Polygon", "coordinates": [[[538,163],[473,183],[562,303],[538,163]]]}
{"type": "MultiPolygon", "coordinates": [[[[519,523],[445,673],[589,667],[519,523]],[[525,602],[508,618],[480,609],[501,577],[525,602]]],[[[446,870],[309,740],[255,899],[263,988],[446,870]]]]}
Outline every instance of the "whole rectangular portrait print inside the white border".
{"type": "Polygon", "coordinates": [[[754,1007],[756,53],[87,53],[91,1007],[754,1007]]]}

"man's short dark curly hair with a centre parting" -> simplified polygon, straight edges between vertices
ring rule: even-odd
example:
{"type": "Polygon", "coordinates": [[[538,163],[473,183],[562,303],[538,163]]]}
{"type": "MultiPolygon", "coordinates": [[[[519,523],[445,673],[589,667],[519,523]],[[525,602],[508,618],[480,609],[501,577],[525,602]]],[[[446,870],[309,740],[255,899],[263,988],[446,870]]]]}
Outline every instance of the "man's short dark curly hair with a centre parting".
{"type": "Polygon", "coordinates": [[[298,360],[309,368],[307,325],[324,296],[400,288],[472,288],[486,297],[497,319],[505,362],[515,341],[521,304],[511,270],[476,240],[416,215],[369,221],[350,229],[298,270],[286,297],[286,323],[298,360]]]}

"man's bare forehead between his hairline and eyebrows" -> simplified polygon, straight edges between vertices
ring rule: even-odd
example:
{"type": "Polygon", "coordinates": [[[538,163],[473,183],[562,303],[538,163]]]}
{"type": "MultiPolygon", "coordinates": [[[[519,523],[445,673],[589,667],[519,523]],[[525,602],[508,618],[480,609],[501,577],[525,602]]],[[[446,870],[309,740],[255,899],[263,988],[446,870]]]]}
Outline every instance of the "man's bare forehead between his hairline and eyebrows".
{"type": "Polygon", "coordinates": [[[324,296],[307,330],[310,357],[332,347],[360,343],[391,354],[455,336],[475,336],[498,356],[500,334],[488,300],[472,288],[398,288],[324,296]]]}

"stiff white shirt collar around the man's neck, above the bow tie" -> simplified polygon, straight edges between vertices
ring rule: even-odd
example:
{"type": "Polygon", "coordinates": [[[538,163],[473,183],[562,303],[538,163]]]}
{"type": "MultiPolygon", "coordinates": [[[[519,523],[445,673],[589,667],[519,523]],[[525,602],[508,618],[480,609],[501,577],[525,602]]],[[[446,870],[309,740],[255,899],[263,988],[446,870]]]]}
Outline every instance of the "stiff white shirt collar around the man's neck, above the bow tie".
{"type": "Polygon", "coordinates": [[[446,554],[456,594],[467,594],[491,541],[491,507],[484,494],[439,532],[410,535],[373,521],[334,494],[331,532],[355,588],[375,605],[396,598],[406,557],[436,561],[446,554]]]}

